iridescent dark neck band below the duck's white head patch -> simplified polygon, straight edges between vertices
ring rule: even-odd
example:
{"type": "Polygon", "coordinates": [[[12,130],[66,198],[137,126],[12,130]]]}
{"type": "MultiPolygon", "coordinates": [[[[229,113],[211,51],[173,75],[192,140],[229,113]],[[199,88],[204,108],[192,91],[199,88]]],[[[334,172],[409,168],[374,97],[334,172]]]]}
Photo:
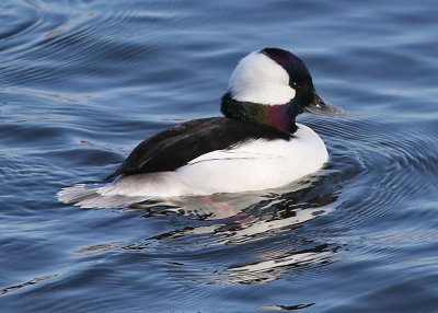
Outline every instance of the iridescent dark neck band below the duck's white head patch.
{"type": "Polygon", "coordinates": [[[267,125],[287,134],[297,130],[295,117],[298,109],[289,102],[280,105],[266,105],[234,100],[228,92],[222,96],[221,112],[226,117],[267,125]]]}

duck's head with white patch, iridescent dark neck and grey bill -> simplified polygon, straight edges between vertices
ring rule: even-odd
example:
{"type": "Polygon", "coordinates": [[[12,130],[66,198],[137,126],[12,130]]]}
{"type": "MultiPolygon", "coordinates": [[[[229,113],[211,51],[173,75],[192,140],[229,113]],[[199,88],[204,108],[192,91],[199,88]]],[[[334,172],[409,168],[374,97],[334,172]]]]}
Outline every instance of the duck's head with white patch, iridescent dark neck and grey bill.
{"type": "Polygon", "coordinates": [[[345,114],[316,93],[304,62],[279,48],[264,48],[240,60],[221,111],[227,117],[266,124],[286,132],[296,130],[296,116],[303,112],[345,114]]]}

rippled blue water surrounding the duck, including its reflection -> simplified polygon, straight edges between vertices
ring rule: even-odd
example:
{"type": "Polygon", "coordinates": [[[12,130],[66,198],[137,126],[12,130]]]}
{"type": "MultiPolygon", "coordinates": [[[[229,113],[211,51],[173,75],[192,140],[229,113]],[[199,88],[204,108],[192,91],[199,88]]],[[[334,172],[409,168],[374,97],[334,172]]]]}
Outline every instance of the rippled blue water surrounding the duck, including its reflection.
{"type": "Polygon", "coordinates": [[[438,312],[435,1],[2,0],[0,25],[0,312],[438,312]],[[219,115],[267,46],[348,113],[300,116],[324,171],[218,208],[57,200],[219,115]]]}

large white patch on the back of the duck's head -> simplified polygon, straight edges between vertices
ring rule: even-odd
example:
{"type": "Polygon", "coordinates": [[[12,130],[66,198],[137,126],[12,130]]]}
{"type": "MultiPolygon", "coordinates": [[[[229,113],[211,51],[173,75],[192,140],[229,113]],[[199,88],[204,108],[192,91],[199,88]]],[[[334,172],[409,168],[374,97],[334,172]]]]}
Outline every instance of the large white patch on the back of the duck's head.
{"type": "Polygon", "coordinates": [[[228,90],[237,101],[268,105],[285,104],[295,96],[287,71],[260,51],[240,60],[228,90]]]}

